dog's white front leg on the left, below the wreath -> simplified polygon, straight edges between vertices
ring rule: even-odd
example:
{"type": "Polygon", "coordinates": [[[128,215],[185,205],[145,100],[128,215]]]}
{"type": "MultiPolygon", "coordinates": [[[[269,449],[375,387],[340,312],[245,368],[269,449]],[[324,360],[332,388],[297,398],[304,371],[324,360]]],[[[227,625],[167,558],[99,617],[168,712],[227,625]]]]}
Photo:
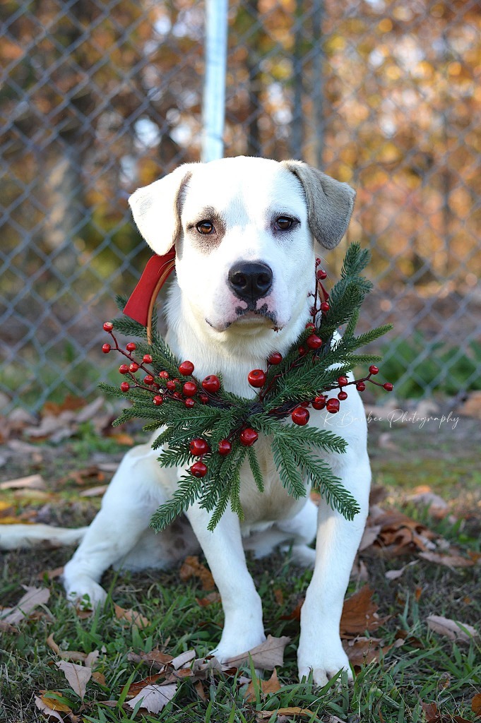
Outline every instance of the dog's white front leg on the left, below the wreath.
{"type": "Polygon", "coordinates": [[[197,503],[187,517],[221,594],[224,630],[212,652],[223,662],[265,640],[262,603],[247,570],[237,515],[227,510],[213,532],[207,529],[210,513],[197,503]]]}

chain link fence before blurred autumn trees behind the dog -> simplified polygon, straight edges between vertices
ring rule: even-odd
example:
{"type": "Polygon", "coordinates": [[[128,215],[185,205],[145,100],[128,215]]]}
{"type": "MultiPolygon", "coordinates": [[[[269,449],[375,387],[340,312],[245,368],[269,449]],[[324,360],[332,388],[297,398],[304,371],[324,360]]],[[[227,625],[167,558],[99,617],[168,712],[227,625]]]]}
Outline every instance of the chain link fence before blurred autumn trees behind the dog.
{"type": "MultiPolygon", "coordinates": [[[[1,401],[38,410],[116,367],[101,322],[150,255],[127,197],[200,156],[205,9],[0,12],[1,401]]],[[[357,189],[364,321],[395,325],[383,371],[405,395],[481,388],[480,74],[476,1],[229,6],[226,155],[302,158],[357,189]]]]}

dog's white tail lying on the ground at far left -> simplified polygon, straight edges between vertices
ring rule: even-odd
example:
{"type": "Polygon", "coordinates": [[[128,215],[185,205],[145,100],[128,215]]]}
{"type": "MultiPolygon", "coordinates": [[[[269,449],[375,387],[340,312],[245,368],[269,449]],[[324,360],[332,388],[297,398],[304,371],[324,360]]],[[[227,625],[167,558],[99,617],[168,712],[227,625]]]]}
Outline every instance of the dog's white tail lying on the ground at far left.
{"type": "Polygon", "coordinates": [[[0,549],[64,547],[78,544],[87,530],[87,527],[68,529],[50,525],[0,525],[0,549]]]}

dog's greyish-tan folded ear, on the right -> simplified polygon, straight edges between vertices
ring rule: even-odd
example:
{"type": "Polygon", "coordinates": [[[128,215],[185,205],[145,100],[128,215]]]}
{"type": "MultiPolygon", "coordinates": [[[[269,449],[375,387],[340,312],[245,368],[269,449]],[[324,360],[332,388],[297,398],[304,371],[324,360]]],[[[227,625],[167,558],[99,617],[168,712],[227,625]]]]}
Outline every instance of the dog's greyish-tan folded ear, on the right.
{"type": "Polygon", "coordinates": [[[304,188],[312,236],[326,249],[333,249],[349,226],[356,192],[348,184],[331,179],[302,161],[282,163],[304,188]]]}

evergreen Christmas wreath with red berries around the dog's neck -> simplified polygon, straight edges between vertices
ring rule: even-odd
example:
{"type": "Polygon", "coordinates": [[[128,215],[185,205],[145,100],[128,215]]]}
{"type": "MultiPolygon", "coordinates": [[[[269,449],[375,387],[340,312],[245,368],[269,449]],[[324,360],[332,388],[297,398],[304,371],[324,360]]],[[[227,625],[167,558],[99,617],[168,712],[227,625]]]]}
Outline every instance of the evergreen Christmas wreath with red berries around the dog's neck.
{"type": "MultiPolygon", "coordinates": [[[[355,385],[360,392],[366,382],[388,391],[393,388],[390,382],[381,384],[373,378],[378,374],[374,362],[379,356],[354,354],[391,328],[384,325],[354,335],[362,301],[372,288],[361,275],[369,258],[367,250],[352,244],[331,294],[325,291],[322,282],[326,274],[316,259],[315,290],[305,330],[285,356],[275,352],[266,360],[265,369],[252,369],[248,380],[258,390],[252,399],[226,391],[220,374],[198,380],[191,361],[176,359],[158,333],[156,315],[150,319],[152,303],[147,325],[125,315],[105,322],[103,328],[112,343],[104,344],[103,351],[117,351],[128,363],[119,367],[124,375],[120,388],[101,387],[132,402],[114,424],[142,419],[147,422],[147,431],[162,427],[152,445],[153,449],[163,448],[159,463],[186,469],[171,500],[153,515],[151,526],[156,531],[169,525],[195,500],[212,513],[210,530],[229,503],[242,520],[240,472],[244,461],[249,463],[260,492],[264,490],[255,452],[259,435],[271,439],[273,460],[289,495],[304,497],[307,479],[347,519],[359,512],[354,497],[322,458],[323,451],[343,453],[346,442],[333,432],[309,427],[308,422],[309,407],[337,414],[349,386],[355,385]],[[344,333],[336,334],[344,325],[344,333]],[[142,341],[129,341],[123,349],[115,332],[142,341]],[[349,372],[367,364],[367,375],[348,380],[349,372]]],[[[171,257],[169,263],[172,267],[171,257]]],[[[118,297],[117,301],[123,311],[125,299],[118,297]]]]}

